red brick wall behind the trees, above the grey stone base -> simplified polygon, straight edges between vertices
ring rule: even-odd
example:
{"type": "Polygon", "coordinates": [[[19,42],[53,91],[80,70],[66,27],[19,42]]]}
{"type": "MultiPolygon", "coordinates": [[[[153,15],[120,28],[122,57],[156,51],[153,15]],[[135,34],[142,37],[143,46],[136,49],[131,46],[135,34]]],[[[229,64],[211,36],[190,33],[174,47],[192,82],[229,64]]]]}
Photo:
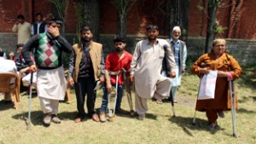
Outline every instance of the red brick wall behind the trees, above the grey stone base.
{"type": "MultiPolygon", "coordinates": [[[[79,0],[70,0],[67,9],[66,32],[76,32],[76,15],[74,2],[79,0]]],[[[232,28],[232,9],[234,9],[234,0],[224,1],[225,3],[218,9],[219,24],[228,29],[218,37],[247,38],[256,39],[256,15],[254,6],[256,1],[241,0],[241,11],[236,32],[232,28]]],[[[131,7],[128,16],[128,34],[143,34],[148,24],[156,24],[160,27],[160,34],[166,33],[164,12],[166,3],[154,0],[137,0],[137,3],[131,7]]],[[[201,11],[197,8],[202,1],[190,0],[189,9],[189,37],[205,37],[207,33],[207,3],[203,25],[201,27],[201,11]],[[201,35],[202,29],[202,35],[201,35]]],[[[235,2],[235,1],[234,1],[235,2]]],[[[102,34],[116,33],[116,9],[111,0],[100,1],[100,32],[102,34]]],[[[17,14],[24,14],[26,21],[34,20],[34,14],[41,12],[44,15],[52,13],[52,4],[48,0],[0,0],[0,32],[11,32],[15,24],[17,14]],[[15,2],[15,3],[14,3],[15,2]]],[[[138,35],[139,36],[139,35],[138,35]]]]}

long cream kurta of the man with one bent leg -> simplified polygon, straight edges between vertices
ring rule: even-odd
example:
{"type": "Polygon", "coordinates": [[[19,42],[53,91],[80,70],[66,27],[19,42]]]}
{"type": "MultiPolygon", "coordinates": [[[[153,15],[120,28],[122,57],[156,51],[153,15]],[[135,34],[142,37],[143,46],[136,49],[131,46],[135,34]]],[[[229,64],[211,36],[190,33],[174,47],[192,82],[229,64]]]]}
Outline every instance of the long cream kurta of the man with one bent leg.
{"type": "Polygon", "coordinates": [[[172,80],[160,74],[162,60],[165,56],[164,46],[167,46],[167,60],[175,69],[173,53],[169,43],[164,39],[157,39],[151,44],[148,39],[137,43],[131,61],[131,74],[135,78],[135,91],[142,98],[152,98],[154,95],[166,96],[170,94],[172,80]],[[161,87],[158,90],[158,86],[161,87]]]}

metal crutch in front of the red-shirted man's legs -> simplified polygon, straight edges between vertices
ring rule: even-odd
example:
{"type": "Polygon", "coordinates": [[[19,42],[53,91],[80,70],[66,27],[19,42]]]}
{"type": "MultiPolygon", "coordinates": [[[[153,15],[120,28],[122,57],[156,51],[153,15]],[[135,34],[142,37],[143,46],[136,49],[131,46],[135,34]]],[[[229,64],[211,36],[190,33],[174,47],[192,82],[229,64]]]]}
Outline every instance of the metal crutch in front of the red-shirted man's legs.
{"type": "Polygon", "coordinates": [[[120,73],[120,71],[118,71],[118,72],[108,71],[108,72],[109,72],[109,77],[116,76],[115,95],[114,95],[114,102],[113,102],[113,111],[110,108],[111,92],[108,94],[108,117],[109,117],[109,121],[113,122],[114,118],[115,118],[114,113],[115,113],[115,106],[116,106],[116,101],[117,101],[117,96],[118,96],[118,87],[119,87],[119,83],[118,82],[119,82],[119,73],[120,73]]]}

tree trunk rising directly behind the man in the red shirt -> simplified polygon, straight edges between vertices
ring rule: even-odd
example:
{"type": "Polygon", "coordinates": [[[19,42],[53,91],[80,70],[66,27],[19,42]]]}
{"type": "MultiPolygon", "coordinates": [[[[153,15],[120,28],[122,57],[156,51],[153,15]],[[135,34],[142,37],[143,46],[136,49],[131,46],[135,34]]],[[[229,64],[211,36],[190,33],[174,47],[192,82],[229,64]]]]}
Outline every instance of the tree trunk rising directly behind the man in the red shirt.
{"type": "Polygon", "coordinates": [[[117,9],[117,32],[116,34],[121,37],[126,37],[127,34],[127,19],[128,12],[131,6],[137,0],[113,0],[113,4],[117,9]]]}

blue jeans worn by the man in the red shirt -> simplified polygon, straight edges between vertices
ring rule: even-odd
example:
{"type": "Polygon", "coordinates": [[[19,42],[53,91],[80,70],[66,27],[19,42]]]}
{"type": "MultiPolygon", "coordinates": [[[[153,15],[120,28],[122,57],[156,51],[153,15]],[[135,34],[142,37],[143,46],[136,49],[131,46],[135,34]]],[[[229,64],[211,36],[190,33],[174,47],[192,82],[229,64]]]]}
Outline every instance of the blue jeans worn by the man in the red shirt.
{"type": "MultiPolygon", "coordinates": [[[[111,85],[113,87],[115,87],[115,84],[111,84],[111,85]]],[[[108,90],[106,89],[106,85],[102,89],[103,89],[104,95],[102,97],[102,107],[100,109],[100,112],[107,112],[107,110],[108,110],[108,90]]],[[[123,97],[123,85],[119,85],[115,109],[119,109],[121,107],[122,97],[123,97]]]]}

